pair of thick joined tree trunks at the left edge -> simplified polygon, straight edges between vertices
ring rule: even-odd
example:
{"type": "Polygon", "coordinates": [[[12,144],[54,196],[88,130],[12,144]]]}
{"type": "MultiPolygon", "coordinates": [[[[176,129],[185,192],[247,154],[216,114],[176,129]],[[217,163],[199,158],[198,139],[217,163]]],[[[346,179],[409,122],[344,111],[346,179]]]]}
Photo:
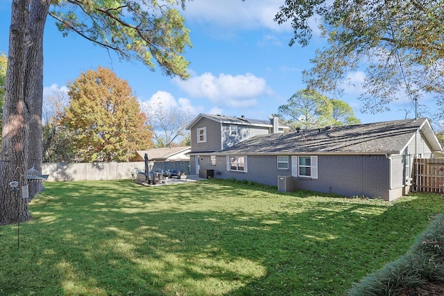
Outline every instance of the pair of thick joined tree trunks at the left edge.
{"type": "MultiPolygon", "coordinates": [[[[28,185],[28,168],[34,165],[40,171],[42,165],[42,43],[49,4],[50,0],[12,0],[0,152],[0,225],[31,218],[28,200],[9,184],[17,181],[19,189],[28,185]]],[[[31,184],[30,196],[41,186],[31,184]]]]}

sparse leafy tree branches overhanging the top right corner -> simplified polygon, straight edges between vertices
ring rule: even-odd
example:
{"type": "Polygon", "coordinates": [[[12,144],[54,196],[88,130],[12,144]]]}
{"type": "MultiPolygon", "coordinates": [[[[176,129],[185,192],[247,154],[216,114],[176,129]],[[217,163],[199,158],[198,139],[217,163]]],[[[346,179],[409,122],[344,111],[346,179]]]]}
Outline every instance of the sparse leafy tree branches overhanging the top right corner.
{"type": "Polygon", "coordinates": [[[329,46],[316,52],[305,82],[320,92],[341,93],[348,73],[364,71],[363,110],[390,110],[390,103],[407,96],[416,106],[430,94],[444,112],[444,3],[420,1],[285,1],[275,16],[291,21],[296,41],[307,45],[309,24],[318,20],[329,46]]]}

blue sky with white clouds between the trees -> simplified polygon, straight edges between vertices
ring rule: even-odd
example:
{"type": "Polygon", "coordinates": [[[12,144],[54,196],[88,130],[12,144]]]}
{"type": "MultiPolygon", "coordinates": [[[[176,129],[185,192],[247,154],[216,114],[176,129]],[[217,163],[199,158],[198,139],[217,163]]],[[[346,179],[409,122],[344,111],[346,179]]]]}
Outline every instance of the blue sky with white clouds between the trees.
{"type": "MultiPolygon", "coordinates": [[[[66,89],[81,72],[99,66],[128,80],[142,104],[160,100],[164,106],[210,113],[267,119],[295,92],[305,88],[302,70],[310,67],[314,51],[325,46],[314,31],[309,46],[288,46],[290,24],[273,21],[284,0],[194,0],[182,14],[191,30],[191,78],[182,81],[150,71],[137,62],[120,61],[78,35],[62,37],[48,17],[44,35],[44,94],[66,89]]],[[[8,52],[11,0],[0,0],[0,51],[8,52]]],[[[343,101],[352,106],[362,123],[404,119],[411,104],[400,98],[391,112],[362,114],[357,100],[364,73],[349,73],[355,87],[346,89],[343,101]]],[[[409,117],[414,114],[409,114],[409,117]]]]}

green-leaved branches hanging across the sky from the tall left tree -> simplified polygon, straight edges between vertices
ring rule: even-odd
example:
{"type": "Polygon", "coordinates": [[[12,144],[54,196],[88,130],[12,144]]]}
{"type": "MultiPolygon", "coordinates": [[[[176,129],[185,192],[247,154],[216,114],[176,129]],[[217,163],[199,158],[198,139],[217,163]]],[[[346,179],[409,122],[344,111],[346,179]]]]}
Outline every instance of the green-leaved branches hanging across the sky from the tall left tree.
{"type": "MultiPolygon", "coordinates": [[[[191,46],[178,0],[58,0],[49,11],[64,36],[77,33],[124,60],[139,60],[171,76],[187,78],[189,62],[182,56],[191,46]]],[[[185,0],[180,0],[185,8],[185,0]]]]}

